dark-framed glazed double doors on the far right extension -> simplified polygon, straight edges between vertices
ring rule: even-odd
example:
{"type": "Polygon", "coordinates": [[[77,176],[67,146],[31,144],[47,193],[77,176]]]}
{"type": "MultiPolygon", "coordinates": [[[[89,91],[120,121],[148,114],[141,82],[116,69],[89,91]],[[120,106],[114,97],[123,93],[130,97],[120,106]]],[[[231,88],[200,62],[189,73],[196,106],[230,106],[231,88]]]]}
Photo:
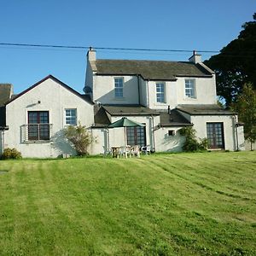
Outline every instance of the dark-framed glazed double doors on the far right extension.
{"type": "Polygon", "coordinates": [[[209,148],[224,148],[223,123],[207,123],[207,140],[209,148]]]}

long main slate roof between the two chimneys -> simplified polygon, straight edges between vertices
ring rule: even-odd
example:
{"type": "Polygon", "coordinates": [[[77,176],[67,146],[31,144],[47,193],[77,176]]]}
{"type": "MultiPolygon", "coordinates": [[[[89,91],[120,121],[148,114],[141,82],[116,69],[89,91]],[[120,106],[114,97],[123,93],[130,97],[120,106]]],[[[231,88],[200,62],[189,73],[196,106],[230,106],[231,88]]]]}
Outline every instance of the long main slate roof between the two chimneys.
{"type": "Polygon", "coordinates": [[[141,75],[146,80],[212,77],[207,68],[190,61],[96,60],[91,67],[98,75],[141,75]]]}

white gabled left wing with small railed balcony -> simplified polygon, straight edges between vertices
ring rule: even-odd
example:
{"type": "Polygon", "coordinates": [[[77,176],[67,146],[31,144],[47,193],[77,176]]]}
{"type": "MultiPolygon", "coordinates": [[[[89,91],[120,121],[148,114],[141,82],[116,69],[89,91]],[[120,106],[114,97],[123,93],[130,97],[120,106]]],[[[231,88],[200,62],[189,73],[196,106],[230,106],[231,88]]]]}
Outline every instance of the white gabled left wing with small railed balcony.
{"type": "Polygon", "coordinates": [[[5,108],[9,130],[4,132],[4,148],[16,148],[24,157],[75,154],[63,128],[78,121],[87,127],[94,123],[93,103],[51,75],[15,96],[5,108]]]}

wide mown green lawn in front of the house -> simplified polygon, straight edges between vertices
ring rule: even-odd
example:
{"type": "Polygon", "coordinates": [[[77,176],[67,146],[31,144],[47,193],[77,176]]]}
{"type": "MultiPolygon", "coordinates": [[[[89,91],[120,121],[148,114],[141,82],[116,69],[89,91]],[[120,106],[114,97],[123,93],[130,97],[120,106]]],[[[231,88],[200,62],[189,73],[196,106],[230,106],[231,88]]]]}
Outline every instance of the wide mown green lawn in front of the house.
{"type": "Polygon", "coordinates": [[[0,161],[0,255],[256,255],[256,152],[0,161]]]}

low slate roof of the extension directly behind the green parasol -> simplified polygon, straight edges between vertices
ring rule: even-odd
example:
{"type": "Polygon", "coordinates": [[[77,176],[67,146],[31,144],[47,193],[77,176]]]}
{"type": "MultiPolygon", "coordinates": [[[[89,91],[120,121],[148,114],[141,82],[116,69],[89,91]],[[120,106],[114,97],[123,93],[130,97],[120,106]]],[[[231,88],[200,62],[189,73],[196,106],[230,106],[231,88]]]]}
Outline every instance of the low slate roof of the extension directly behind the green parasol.
{"type": "Polygon", "coordinates": [[[146,108],[141,105],[103,105],[110,115],[159,115],[154,109],[146,108]]]}

